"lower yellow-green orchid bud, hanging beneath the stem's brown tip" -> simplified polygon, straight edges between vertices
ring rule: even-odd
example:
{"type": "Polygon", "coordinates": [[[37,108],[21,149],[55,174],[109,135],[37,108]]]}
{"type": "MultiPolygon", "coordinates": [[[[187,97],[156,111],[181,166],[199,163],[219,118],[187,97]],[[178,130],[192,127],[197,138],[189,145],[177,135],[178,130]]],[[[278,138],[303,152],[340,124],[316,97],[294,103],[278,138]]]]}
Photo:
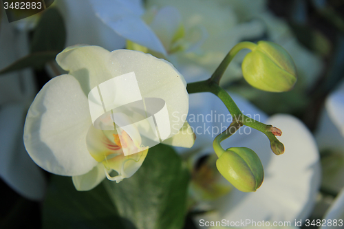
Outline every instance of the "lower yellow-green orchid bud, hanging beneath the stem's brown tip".
{"type": "Polygon", "coordinates": [[[264,168],[255,151],[246,147],[229,148],[216,161],[224,178],[242,192],[255,192],[264,179],[264,168]]]}

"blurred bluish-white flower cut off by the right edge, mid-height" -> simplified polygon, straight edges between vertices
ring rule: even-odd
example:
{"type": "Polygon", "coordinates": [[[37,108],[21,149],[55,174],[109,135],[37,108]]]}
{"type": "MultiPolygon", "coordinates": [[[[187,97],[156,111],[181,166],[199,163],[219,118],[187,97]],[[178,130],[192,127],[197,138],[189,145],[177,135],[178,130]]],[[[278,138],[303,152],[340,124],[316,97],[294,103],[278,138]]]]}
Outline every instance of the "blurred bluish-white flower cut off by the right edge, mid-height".
{"type": "Polygon", "coordinates": [[[322,185],[338,193],[344,187],[344,82],[325,100],[316,142],[323,153],[322,185]]]}

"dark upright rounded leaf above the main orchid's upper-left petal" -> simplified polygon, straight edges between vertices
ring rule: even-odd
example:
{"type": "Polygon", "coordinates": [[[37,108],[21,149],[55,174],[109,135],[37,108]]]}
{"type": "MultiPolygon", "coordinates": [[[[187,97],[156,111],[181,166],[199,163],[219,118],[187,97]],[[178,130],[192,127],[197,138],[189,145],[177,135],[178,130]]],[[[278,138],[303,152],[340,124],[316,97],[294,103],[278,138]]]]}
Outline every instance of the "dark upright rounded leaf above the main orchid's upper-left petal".
{"type": "Polygon", "coordinates": [[[66,30],[63,18],[54,7],[44,11],[34,30],[31,53],[43,51],[61,52],[65,47],[66,30]]]}

